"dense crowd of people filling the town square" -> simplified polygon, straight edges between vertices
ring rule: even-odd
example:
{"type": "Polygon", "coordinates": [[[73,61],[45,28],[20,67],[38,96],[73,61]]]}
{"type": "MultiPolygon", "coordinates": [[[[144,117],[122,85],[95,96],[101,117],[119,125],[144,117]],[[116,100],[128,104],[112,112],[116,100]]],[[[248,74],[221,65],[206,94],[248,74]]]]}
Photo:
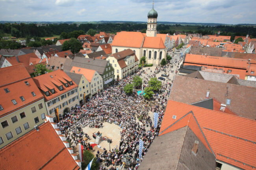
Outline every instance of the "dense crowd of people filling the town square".
{"type": "MultiPolygon", "coordinates": [[[[167,65],[166,68],[157,67],[156,71],[160,69],[166,71],[169,67],[171,66],[167,65]]],[[[67,113],[58,123],[61,133],[65,134],[72,146],[81,143],[83,148],[87,150],[93,150],[93,148],[83,140],[84,138],[90,138],[86,132],[83,132],[83,127],[102,126],[104,122],[115,123],[122,127],[119,147],[117,146],[117,148],[112,148],[109,151],[104,148],[101,155],[96,154],[102,170],[118,169],[117,167],[120,167],[123,163],[124,156],[132,158],[130,164],[126,164],[125,168],[137,169],[154,137],[158,135],[171,83],[164,82],[162,88],[150,100],[138,96],[135,91],[132,95],[126,95],[123,88],[126,83],[132,83],[133,76],[136,75],[147,77],[147,73],[143,70],[132,76],[127,76],[112,87],[89,99],[84,105],[67,113]],[[153,118],[148,115],[150,111],[159,113],[156,128],[154,128],[153,118]],[[139,139],[144,141],[142,157],[139,157],[139,139]]],[[[144,78],[145,87],[147,87],[148,80],[148,78],[144,78]]]]}

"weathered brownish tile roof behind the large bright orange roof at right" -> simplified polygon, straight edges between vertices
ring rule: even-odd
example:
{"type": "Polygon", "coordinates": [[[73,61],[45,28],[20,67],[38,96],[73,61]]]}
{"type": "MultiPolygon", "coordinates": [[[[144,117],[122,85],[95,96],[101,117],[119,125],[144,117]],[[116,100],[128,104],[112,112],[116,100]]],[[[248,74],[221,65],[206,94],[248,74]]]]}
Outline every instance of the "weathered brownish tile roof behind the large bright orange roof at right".
{"type": "Polygon", "coordinates": [[[256,119],[256,88],[230,83],[221,83],[198,78],[175,76],[169,100],[182,103],[194,103],[208,98],[215,98],[238,116],[256,119]],[[227,103],[230,99],[230,104],[227,103]]]}

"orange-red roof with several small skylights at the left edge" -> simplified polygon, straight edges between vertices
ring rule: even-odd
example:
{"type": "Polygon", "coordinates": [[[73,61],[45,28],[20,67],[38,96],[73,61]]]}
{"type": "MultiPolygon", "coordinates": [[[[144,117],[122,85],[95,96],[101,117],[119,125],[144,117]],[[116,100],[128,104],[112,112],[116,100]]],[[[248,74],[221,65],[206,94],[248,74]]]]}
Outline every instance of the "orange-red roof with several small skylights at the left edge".
{"type": "Polygon", "coordinates": [[[43,98],[23,64],[0,69],[0,76],[0,105],[4,108],[0,110],[0,117],[43,98]],[[25,81],[29,85],[26,85],[25,81]],[[7,93],[4,90],[6,88],[9,89],[7,93]],[[31,92],[34,92],[36,96],[33,96],[31,92]],[[20,96],[23,96],[25,100],[22,101],[20,96]],[[17,104],[13,104],[13,99],[17,104]]]}

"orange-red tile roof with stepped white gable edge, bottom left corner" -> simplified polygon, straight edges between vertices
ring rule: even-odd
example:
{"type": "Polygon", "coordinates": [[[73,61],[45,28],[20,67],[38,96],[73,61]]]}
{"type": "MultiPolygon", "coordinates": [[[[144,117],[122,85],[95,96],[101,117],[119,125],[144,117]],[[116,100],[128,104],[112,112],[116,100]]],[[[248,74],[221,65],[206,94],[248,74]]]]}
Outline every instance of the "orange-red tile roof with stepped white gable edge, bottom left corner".
{"type": "Polygon", "coordinates": [[[0,150],[0,169],[78,169],[49,122],[0,150]]]}

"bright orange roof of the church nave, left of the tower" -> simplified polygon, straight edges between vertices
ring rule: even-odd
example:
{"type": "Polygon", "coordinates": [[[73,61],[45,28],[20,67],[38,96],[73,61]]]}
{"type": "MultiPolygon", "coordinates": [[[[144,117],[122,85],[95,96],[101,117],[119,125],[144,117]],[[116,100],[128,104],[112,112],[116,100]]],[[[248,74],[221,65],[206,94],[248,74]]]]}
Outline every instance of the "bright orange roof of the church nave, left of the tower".
{"type": "Polygon", "coordinates": [[[141,32],[121,31],[115,36],[112,46],[121,47],[142,47],[144,35],[141,32]]]}

